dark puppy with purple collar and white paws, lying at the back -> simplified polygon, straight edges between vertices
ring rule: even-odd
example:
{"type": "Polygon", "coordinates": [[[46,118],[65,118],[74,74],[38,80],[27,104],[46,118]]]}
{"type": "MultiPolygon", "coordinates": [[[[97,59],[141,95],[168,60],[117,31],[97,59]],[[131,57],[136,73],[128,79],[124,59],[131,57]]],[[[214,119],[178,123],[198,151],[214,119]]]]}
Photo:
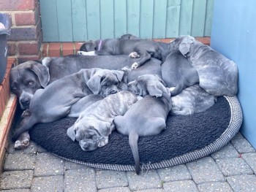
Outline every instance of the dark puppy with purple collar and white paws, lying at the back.
{"type": "Polygon", "coordinates": [[[151,57],[165,61],[165,50],[154,41],[144,39],[104,39],[85,42],[78,51],[79,55],[129,55],[139,58],[132,69],[143,65],[151,57]]]}

